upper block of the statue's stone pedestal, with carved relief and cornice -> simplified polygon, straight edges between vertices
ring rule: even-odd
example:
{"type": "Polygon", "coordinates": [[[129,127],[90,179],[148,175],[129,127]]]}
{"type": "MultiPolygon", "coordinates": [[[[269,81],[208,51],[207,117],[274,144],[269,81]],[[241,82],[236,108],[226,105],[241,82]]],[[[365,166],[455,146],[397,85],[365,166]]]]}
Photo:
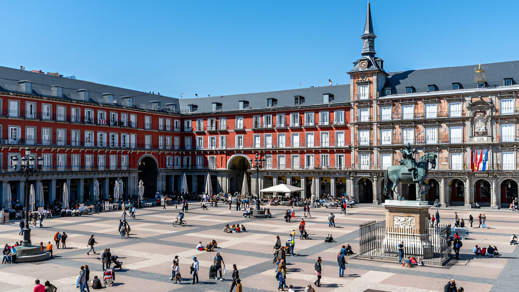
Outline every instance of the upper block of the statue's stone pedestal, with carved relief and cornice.
{"type": "Polygon", "coordinates": [[[426,233],[429,208],[427,201],[386,200],[386,226],[414,228],[417,234],[426,233]]]}

